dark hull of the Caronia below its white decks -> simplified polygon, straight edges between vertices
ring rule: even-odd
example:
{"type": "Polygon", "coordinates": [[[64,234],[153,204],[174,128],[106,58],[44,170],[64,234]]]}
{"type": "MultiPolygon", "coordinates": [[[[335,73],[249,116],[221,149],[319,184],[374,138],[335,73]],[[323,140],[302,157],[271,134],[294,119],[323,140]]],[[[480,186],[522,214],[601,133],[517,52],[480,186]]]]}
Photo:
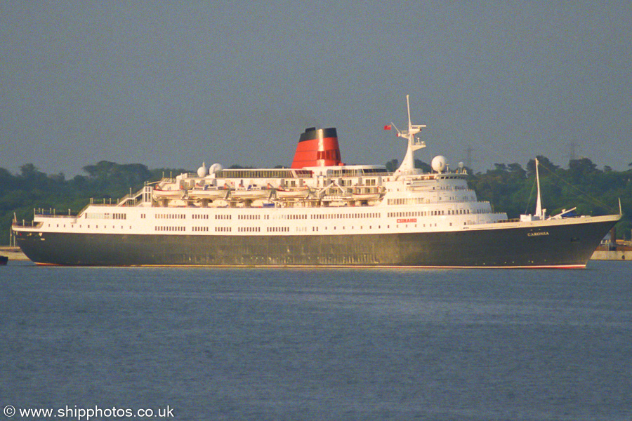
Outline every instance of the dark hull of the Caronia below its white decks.
{"type": "Polygon", "coordinates": [[[17,232],[48,265],[584,267],[616,220],[458,232],[191,236],[17,232]]]}

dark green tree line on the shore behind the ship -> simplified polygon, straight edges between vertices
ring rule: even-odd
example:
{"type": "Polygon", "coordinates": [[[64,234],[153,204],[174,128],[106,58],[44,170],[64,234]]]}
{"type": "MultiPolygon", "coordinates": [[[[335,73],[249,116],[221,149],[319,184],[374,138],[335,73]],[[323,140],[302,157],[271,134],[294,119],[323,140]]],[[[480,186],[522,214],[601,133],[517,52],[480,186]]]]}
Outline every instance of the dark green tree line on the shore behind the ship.
{"type": "MultiPolygon", "coordinates": [[[[624,219],[617,225],[617,237],[630,238],[632,229],[632,169],[603,170],[588,158],[574,159],[569,168],[560,168],[545,156],[538,156],[540,185],[544,207],[554,215],[562,209],[577,206],[582,215],[605,215],[619,212],[619,199],[624,219]]],[[[430,172],[428,163],[417,159],[417,168],[430,172]]],[[[632,163],[631,163],[632,166],[632,163]]],[[[280,168],[281,166],[277,166],[280,168]]],[[[398,167],[397,159],[386,163],[389,171],[398,167]]],[[[231,168],[249,168],[237,165],[231,168]]],[[[13,175],[0,168],[0,244],[8,244],[9,229],[15,215],[18,220],[32,220],[34,208],[54,208],[58,213],[76,214],[91,198],[112,200],[138,191],[145,182],[160,180],[163,176],[187,173],[182,168],[150,170],[140,163],[119,164],[100,161],[84,166],[86,175],[66,180],[63,173],[48,175],[32,163],[20,167],[13,175]]],[[[468,185],[479,200],[489,201],[492,208],[506,212],[509,218],[522,213],[533,213],[536,201],[535,161],[522,168],[518,163],[496,163],[485,173],[468,171],[468,185]]]]}

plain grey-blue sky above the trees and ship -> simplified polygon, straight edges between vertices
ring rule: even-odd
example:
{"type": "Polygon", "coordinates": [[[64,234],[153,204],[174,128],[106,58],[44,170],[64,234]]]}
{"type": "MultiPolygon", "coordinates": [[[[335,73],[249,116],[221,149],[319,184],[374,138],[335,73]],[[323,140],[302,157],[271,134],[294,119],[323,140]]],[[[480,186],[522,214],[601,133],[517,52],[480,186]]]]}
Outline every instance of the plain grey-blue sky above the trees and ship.
{"type": "Polygon", "coordinates": [[[427,162],[632,162],[630,1],[212,3],[0,0],[0,167],[385,163],[407,94],[427,162]]]}

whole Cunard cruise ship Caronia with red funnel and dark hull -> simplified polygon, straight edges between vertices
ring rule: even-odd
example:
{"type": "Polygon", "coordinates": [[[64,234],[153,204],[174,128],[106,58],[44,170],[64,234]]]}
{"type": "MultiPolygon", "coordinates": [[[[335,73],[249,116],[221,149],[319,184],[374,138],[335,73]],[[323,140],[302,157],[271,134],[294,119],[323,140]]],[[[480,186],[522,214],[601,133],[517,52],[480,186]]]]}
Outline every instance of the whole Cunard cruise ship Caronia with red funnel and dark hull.
{"type": "Polygon", "coordinates": [[[426,126],[407,105],[396,171],[345,165],[336,129],[308,128],[290,168],[203,163],[77,215],[36,211],[13,234],[38,265],[581,268],[621,218],[547,216],[538,189],[534,214],[509,220],[478,201],[462,164],[415,168],[426,126]]]}

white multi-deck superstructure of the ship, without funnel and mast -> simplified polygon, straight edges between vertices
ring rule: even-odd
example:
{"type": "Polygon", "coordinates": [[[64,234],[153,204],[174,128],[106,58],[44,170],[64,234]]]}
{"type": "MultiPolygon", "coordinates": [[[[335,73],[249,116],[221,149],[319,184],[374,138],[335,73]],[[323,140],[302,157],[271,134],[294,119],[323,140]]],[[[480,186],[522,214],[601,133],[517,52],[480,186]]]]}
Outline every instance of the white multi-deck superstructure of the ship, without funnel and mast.
{"type": "Polygon", "coordinates": [[[310,235],[452,231],[506,219],[476,200],[461,173],[338,166],[182,174],[116,204],[93,202],[76,217],[38,212],[34,222],[53,232],[310,235]],[[291,189],[308,193],[287,196],[291,189]]]}

